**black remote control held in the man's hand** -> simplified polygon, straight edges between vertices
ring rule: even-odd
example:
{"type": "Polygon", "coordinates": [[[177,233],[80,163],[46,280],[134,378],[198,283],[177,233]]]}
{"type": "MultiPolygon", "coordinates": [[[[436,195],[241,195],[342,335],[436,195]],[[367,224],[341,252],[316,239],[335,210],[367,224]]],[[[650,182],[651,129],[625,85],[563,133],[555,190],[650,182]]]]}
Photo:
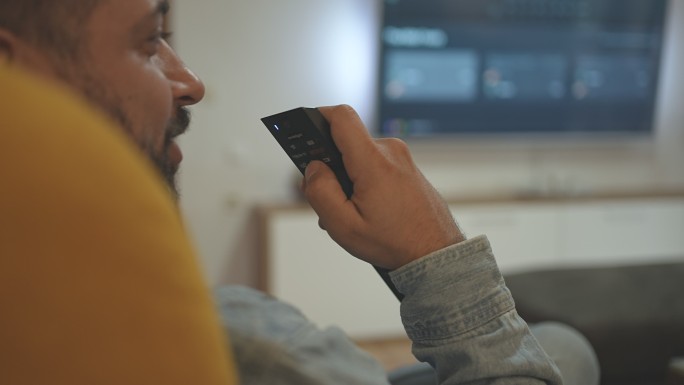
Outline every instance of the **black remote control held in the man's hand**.
{"type": "MultiPolygon", "coordinates": [[[[295,108],[262,118],[261,121],[302,174],[311,161],[323,161],[335,173],[347,198],[352,196],[354,185],[344,169],[342,154],[332,139],[330,124],[317,108],[295,108]]],[[[389,271],[374,267],[401,301],[404,295],[392,283],[389,271]]]]}

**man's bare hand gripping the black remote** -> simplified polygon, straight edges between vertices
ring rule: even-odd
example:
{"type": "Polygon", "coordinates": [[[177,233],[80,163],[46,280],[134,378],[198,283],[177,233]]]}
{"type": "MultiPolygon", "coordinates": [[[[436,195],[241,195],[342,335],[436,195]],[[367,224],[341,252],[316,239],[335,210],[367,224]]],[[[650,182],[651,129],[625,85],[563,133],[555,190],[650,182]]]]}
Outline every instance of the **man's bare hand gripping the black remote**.
{"type": "Polygon", "coordinates": [[[398,139],[373,139],[349,106],[321,107],[354,183],[348,200],[333,172],[309,164],[302,185],[320,226],[349,253],[396,269],[464,240],[449,208],[398,139]]]}

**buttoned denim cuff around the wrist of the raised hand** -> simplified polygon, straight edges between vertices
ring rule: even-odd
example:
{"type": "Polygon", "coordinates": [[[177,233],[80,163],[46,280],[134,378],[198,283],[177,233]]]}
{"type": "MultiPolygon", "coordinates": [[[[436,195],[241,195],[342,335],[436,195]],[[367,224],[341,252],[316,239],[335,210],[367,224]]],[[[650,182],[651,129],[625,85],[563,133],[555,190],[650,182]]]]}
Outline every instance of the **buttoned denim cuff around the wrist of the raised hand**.
{"type": "Polygon", "coordinates": [[[515,308],[485,236],[436,251],[390,276],[406,296],[401,317],[414,342],[458,338],[515,308]]]}

